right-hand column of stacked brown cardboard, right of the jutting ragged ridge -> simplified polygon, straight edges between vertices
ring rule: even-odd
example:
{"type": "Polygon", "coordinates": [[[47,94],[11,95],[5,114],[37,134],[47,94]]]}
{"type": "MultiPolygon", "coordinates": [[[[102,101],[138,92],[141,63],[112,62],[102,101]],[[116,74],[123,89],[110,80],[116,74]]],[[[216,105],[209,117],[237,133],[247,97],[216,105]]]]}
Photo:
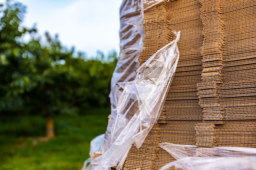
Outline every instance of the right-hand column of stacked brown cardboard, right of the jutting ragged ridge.
{"type": "Polygon", "coordinates": [[[223,125],[217,146],[256,147],[256,1],[223,1],[225,23],[222,83],[223,125]]]}

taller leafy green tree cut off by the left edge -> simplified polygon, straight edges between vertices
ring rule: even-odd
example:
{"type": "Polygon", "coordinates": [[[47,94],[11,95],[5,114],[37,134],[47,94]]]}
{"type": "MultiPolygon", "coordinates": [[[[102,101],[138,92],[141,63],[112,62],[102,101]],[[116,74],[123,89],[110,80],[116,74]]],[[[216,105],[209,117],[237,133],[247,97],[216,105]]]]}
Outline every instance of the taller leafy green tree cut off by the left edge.
{"type": "Polygon", "coordinates": [[[20,110],[22,94],[35,87],[30,75],[33,65],[29,62],[21,41],[26,33],[35,32],[35,29],[20,27],[24,17],[25,7],[20,3],[6,1],[5,8],[1,4],[0,19],[0,111],[20,110]]]}

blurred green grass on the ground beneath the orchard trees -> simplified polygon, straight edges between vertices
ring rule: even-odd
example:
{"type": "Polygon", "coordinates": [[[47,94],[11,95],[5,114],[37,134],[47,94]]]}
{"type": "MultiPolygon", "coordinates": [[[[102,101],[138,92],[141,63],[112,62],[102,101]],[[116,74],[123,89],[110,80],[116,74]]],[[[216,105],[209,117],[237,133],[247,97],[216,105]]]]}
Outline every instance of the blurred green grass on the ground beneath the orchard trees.
{"type": "Polygon", "coordinates": [[[0,169],[81,169],[90,141],[106,131],[109,108],[79,117],[54,117],[56,138],[44,141],[41,117],[1,118],[0,169]]]}

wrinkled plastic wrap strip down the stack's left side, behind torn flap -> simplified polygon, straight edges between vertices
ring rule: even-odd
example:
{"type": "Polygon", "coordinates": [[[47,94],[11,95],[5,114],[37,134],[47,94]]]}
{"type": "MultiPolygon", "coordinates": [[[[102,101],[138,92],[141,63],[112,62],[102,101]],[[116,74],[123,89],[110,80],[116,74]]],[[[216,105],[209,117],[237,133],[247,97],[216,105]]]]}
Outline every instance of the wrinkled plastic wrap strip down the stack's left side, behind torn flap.
{"type": "MultiPolygon", "coordinates": [[[[118,100],[123,89],[119,82],[134,80],[139,67],[138,56],[143,48],[143,12],[141,0],[123,0],[120,6],[120,57],[111,80],[111,116],[102,144],[106,152],[113,141],[113,128],[116,120],[118,100]]],[[[132,115],[132,113],[130,113],[132,115]]]]}

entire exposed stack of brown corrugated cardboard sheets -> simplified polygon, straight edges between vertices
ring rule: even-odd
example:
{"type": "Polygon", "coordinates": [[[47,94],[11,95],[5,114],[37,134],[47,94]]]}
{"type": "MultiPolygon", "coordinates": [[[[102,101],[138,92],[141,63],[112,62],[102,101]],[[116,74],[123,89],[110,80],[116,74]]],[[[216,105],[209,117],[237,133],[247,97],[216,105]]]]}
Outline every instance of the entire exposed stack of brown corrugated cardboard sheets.
{"type": "Polygon", "coordinates": [[[181,31],[159,120],[124,169],[175,160],[159,143],[256,147],[256,1],[177,0],[144,10],[142,64],[181,31]]]}

